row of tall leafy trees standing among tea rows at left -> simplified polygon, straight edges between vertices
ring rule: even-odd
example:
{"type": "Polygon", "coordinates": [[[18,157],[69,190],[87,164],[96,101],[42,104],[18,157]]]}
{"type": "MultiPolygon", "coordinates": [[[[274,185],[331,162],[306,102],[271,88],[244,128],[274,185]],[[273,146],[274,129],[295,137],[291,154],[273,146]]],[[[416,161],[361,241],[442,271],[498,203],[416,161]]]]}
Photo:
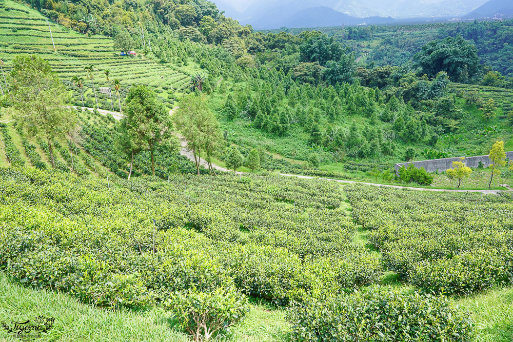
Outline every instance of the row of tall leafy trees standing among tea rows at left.
{"type": "MultiPolygon", "coordinates": [[[[82,84],[80,78],[75,82],[79,87],[82,84]]],[[[50,162],[55,168],[53,142],[67,135],[76,135],[73,132],[78,127],[77,112],[67,106],[69,92],[52,72],[48,62],[34,55],[14,59],[11,88],[7,103],[17,109],[14,118],[29,136],[43,138],[48,143],[50,162]]],[[[130,164],[128,178],[132,175],[134,155],[142,151],[150,152],[151,171],[155,175],[156,148],[177,149],[168,111],[157,100],[152,89],[141,85],[132,87],[128,92],[124,114],[117,147],[127,156],[130,164]]],[[[203,155],[208,160],[209,169],[215,174],[211,157],[222,145],[223,136],[218,121],[206,107],[205,97],[196,94],[186,96],[175,113],[174,122],[187,138],[198,174],[203,155]]]]}

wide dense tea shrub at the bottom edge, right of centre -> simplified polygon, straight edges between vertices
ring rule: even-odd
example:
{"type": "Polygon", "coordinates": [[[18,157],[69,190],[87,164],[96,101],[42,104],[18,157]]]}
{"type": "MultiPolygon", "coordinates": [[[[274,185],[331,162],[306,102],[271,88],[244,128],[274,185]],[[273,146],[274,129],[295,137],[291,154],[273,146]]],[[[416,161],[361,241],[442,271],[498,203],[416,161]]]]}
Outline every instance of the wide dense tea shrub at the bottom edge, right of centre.
{"type": "Polygon", "coordinates": [[[379,287],[295,305],[288,320],[299,341],[465,342],[472,337],[468,312],[448,298],[379,287]]]}

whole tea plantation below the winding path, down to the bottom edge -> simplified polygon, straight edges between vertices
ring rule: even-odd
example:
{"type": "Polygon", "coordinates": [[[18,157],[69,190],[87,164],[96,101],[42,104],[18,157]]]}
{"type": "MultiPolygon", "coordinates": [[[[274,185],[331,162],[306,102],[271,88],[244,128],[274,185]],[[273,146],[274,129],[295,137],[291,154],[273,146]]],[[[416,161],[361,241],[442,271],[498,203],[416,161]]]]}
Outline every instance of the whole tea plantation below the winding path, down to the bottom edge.
{"type": "MultiPolygon", "coordinates": [[[[45,142],[2,124],[0,268],[11,292],[19,282],[36,290],[29,298],[64,292],[108,315],[128,310],[131,322],[171,317],[150,329],[168,339],[194,335],[190,317],[208,310],[228,340],[508,340],[513,308],[475,301],[510,292],[510,193],[195,176],[169,150],[156,153],[157,177],[128,181],[115,119],[78,117],[80,142],[53,142],[58,170],[45,142]],[[253,335],[255,325],[278,330],[253,335]]],[[[149,168],[141,154],[134,175],[149,168]]]]}

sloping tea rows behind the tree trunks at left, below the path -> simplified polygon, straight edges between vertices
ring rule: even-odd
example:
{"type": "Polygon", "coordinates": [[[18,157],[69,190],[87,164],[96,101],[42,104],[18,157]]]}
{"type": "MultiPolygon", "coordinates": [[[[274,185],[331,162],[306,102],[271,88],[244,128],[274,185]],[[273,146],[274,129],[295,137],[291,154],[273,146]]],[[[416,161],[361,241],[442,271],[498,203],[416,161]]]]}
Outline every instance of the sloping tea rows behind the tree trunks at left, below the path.
{"type": "MultiPolygon", "coordinates": [[[[41,139],[30,138],[19,130],[10,110],[3,110],[0,117],[0,167],[17,165],[37,169],[51,169],[48,144],[41,139]]],[[[106,178],[117,175],[127,178],[129,165],[114,148],[117,122],[112,116],[97,112],[80,112],[80,137],[76,142],[69,138],[54,139],[54,157],[57,169],[80,176],[96,175],[106,178]]],[[[176,144],[178,147],[178,144],[176,144]]],[[[195,174],[193,163],[177,150],[155,151],[155,174],[167,178],[172,174],[195,174]]],[[[202,169],[202,173],[208,173],[202,169]]],[[[151,174],[149,152],[142,152],[134,158],[134,176],[151,174]]]]}

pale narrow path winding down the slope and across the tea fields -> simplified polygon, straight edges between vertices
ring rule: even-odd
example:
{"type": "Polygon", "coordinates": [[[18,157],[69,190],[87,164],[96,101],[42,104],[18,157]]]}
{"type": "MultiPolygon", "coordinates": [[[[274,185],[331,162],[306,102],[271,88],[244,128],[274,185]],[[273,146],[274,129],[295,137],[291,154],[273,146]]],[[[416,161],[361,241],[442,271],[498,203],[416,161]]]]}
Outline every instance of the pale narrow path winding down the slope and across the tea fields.
{"type": "MultiPolygon", "coordinates": [[[[77,107],[73,106],[73,108],[77,108],[77,107]]],[[[78,107],[78,108],[80,108],[80,107],[78,107]]],[[[87,108],[87,107],[82,107],[82,108],[85,108],[85,109],[90,110],[90,111],[94,110],[94,108],[87,108]]],[[[171,109],[169,111],[169,115],[173,115],[174,111],[177,108],[178,107],[174,107],[173,109],[171,109]]],[[[121,120],[121,118],[123,117],[123,114],[121,114],[119,112],[112,112],[110,110],[104,110],[104,109],[97,109],[97,111],[100,112],[103,115],[111,114],[116,120],[121,120]]],[[[185,139],[185,137],[183,135],[181,135],[180,133],[175,133],[175,134],[176,134],[177,137],[180,138],[180,141],[181,141],[182,148],[180,150],[180,154],[183,155],[183,156],[186,156],[189,160],[194,161],[194,155],[187,148],[187,140],[185,139]]],[[[216,169],[216,170],[225,171],[225,172],[232,172],[232,171],[230,171],[230,170],[228,170],[226,168],[223,168],[223,167],[221,167],[219,165],[215,165],[213,163],[211,163],[211,164],[212,164],[212,167],[214,169],[216,169]]],[[[201,158],[200,159],[200,165],[206,166],[207,165],[207,161],[205,159],[201,158]]],[[[242,175],[242,174],[245,174],[245,172],[237,171],[236,174],[242,175]]],[[[379,184],[379,183],[354,182],[353,180],[342,180],[342,179],[332,179],[332,178],[318,178],[318,177],[303,176],[303,175],[288,174],[288,173],[279,173],[279,175],[280,176],[285,176],[285,177],[297,177],[297,178],[301,178],[301,179],[323,179],[323,180],[330,180],[331,182],[337,182],[337,183],[342,183],[342,184],[364,184],[364,185],[370,185],[370,186],[374,186],[374,187],[393,188],[393,189],[410,189],[410,190],[431,191],[431,192],[463,192],[463,193],[465,193],[465,192],[477,192],[477,193],[482,193],[482,194],[497,195],[501,191],[504,191],[504,190],[429,189],[429,188],[403,187],[403,186],[400,186],[400,185],[389,185],[389,184],[379,184]]],[[[511,189],[509,189],[509,190],[511,191],[511,189]]]]}

